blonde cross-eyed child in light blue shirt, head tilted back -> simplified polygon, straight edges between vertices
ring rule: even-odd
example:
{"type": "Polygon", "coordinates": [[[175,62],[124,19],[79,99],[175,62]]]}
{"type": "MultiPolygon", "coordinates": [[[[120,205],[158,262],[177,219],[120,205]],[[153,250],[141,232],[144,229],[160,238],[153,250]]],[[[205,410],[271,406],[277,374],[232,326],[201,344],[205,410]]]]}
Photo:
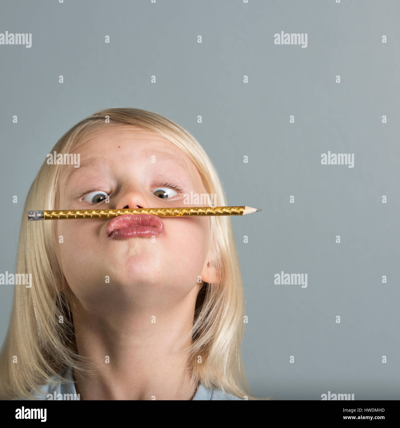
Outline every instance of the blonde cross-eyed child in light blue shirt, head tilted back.
{"type": "Polygon", "coordinates": [[[34,209],[210,205],[188,204],[191,192],[225,206],[200,144],[156,113],[112,108],[71,128],[54,152],[80,163],[49,154],[27,196],[17,272],[33,284],[15,286],[3,398],[257,399],[240,356],[243,285],[229,216],[27,221],[34,209]]]}

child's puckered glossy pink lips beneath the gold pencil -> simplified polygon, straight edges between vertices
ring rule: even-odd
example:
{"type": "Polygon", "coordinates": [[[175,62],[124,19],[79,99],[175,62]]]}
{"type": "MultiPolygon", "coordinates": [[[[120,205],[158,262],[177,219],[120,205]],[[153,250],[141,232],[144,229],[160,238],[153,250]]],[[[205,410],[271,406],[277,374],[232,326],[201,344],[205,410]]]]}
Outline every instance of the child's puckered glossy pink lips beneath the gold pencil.
{"type": "Polygon", "coordinates": [[[162,236],[163,221],[151,214],[124,214],[113,218],[107,225],[107,237],[125,239],[132,236],[162,236]]]}

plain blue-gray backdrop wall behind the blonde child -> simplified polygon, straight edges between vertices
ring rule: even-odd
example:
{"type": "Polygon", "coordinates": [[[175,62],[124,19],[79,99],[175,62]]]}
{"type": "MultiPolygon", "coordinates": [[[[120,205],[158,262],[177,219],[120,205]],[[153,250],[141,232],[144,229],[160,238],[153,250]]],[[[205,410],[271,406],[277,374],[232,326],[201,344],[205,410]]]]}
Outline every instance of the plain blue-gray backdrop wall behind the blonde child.
{"type": "MultiPolygon", "coordinates": [[[[0,45],[0,273],[15,272],[24,199],[59,137],[102,108],[155,111],[199,140],[228,205],[263,209],[232,217],[254,393],[399,399],[399,16],[394,0],[3,2],[0,32],[32,47],[0,45]],[[308,47],[274,45],[282,30],[308,47]],[[354,168],[321,165],[328,150],[354,168]],[[274,285],[281,270],[308,287],[274,285]]],[[[1,341],[11,302],[2,285],[1,341]]]]}

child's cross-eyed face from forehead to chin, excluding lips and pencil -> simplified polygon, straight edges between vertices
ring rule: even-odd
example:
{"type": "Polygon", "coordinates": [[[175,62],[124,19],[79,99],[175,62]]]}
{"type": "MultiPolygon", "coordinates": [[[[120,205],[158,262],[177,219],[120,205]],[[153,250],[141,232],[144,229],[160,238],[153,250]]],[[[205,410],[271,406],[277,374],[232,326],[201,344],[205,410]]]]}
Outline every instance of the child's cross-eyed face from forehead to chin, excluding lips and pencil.
{"type": "MultiPolygon", "coordinates": [[[[180,149],[133,126],[105,125],[70,152],[80,154],[80,167],[64,166],[54,209],[195,206],[184,205],[184,193],[206,193],[199,172],[180,149]],[[89,159],[94,162],[85,166],[89,159]]],[[[65,278],[84,307],[166,308],[189,293],[197,295],[198,276],[208,279],[210,217],[159,218],[164,230],[155,242],[143,236],[110,238],[110,219],[51,220],[57,222],[57,241],[63,237],[58,245],[65,278]]]]}

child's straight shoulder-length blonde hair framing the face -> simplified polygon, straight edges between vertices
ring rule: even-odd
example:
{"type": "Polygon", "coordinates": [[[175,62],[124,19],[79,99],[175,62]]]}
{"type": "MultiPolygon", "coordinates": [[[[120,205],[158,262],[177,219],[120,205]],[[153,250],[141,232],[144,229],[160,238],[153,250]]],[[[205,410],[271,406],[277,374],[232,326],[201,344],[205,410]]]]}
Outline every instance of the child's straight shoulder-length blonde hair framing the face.
{"type": "MultiPolygon", "coordinates": [[[[198,169],[206,192],[217,195],[219,206],[226,205],[221,181],[204,149],[188,131],[157,113],[133,108],[98,111],[67,131],[51,152],[69,153],[86,133],[110,125],[133,125],[175,144],[198,169]]],[[[49,167],[45,160],[25,202],[17,272],[32,273],[33,286],[15,286],[9,327],[0,353],[3,399],[34,398],[32,394],[52,377],[67,381],[60,375],[67,367],[77,373],[91,372],[76,351],[74,325],[65,294],[68,284],[57,258],[55,222],[27,221],[28,210],[54,209],[61,171],[62,165],[49,167]]],[[[240,352],[245,315],[243,284],[229,216],[212,218],[210,254],[213,257],[210,265],[219,272],[219,278],[215,283],[204,282],[197,297],[188,360],[192,380],[240,398],[258,399],[249,394],[243,372],[240,352]],[[201,364],[197,363],[199,355],[201,364]]]]}

